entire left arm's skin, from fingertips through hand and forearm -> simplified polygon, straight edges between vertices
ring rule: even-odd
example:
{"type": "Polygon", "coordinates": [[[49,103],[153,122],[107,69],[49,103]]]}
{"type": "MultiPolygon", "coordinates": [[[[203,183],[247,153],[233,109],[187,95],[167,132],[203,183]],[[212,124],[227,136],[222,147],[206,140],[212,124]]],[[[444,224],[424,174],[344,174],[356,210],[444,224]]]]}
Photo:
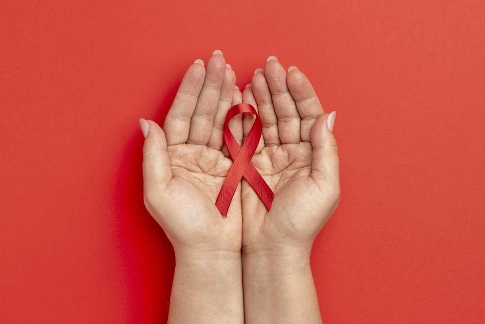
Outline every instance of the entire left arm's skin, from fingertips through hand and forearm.
{"type": "MultiPolygon", "coordinates": [[[[240,103],[234,71],[215,52],[190,66],[163,129],[149,120],[144,200],[172,242],[176,268],[169,323],[243,323],[241,186],[227,218],[214,202],[231,166],[222,150],[227,110],[240,103]]],[[[142,130],[144,122],[141,121],[142,130]]],[[[231,130],[241,141],[241,119],[231,130]]],[[[146,132],[146,129],[145,129],[146,132]]]]}

